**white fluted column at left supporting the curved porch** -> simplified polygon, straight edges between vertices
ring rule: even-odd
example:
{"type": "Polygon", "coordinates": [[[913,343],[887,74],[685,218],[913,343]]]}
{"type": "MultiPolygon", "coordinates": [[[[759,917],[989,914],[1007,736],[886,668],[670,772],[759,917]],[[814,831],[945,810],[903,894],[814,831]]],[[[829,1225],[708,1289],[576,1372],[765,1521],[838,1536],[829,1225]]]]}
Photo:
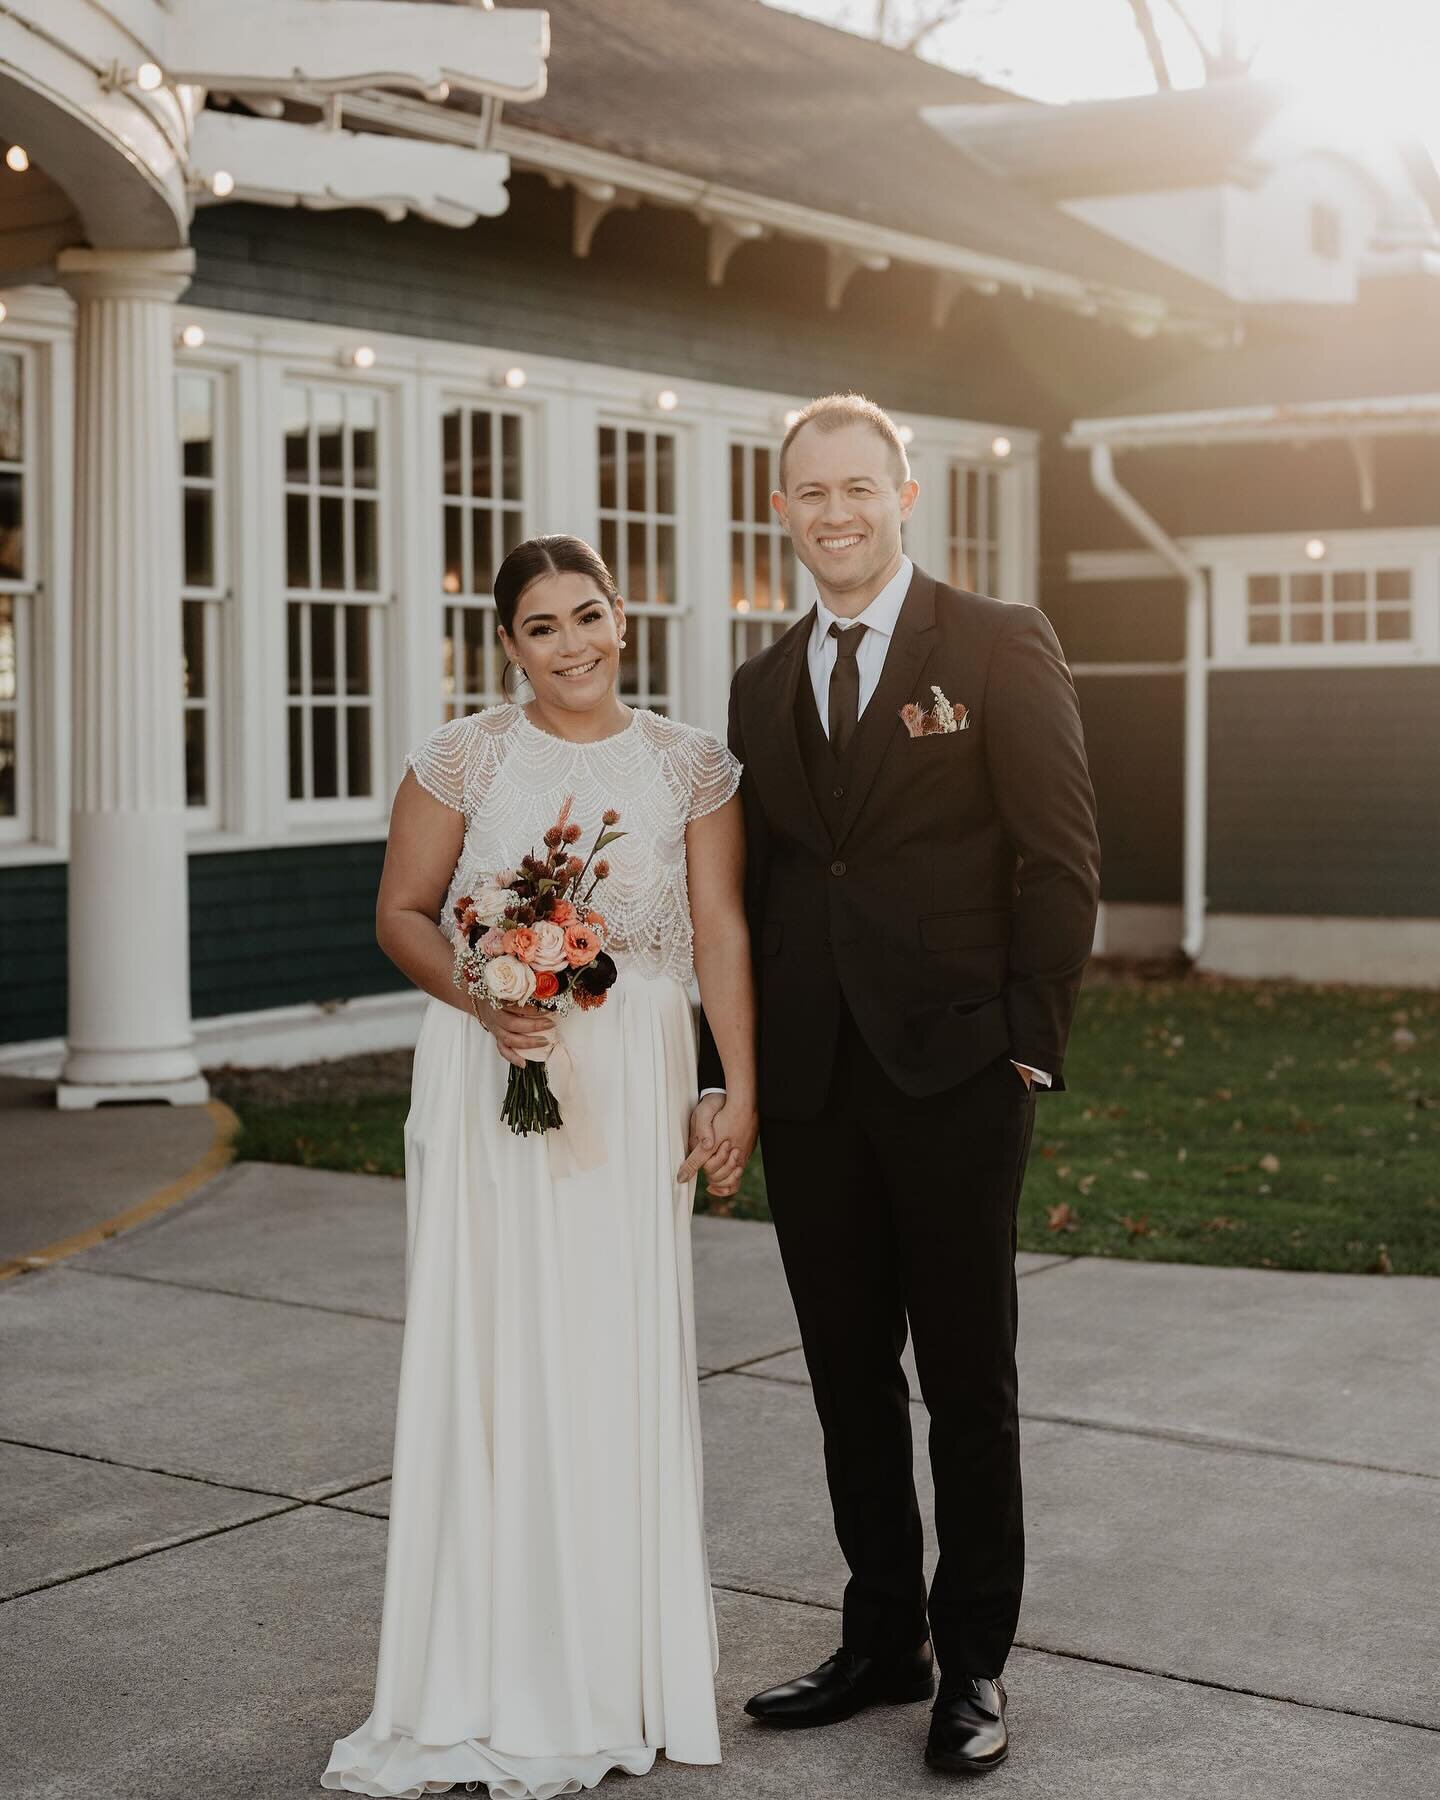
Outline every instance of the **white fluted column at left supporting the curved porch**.
{"type": "Polygon", "coordinates": [[[175,301],[191,250],[65,250],[77,304],[70,1019],[58,1103],[200,1105],[180,722],[175,301]]]}

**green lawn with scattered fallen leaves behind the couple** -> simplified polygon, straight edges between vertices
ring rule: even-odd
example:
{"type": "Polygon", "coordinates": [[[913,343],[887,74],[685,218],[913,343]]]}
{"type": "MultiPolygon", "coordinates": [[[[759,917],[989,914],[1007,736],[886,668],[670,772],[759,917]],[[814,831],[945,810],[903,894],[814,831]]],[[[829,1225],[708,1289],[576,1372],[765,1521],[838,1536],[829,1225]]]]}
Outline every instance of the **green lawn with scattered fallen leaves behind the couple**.
{"type": "MultiPolygon", "coordinates": [[[[1066,1080],[1037,1102],[1022,1249],[1440,1274],[1440,992],[1100,976],[1066,1080]]],[[[232,1103],[241,1157],[403,1170],[403,1093],[232,1103]]],[[[698,1206],[767,1217],[760,1159],[698,1206]]]]}

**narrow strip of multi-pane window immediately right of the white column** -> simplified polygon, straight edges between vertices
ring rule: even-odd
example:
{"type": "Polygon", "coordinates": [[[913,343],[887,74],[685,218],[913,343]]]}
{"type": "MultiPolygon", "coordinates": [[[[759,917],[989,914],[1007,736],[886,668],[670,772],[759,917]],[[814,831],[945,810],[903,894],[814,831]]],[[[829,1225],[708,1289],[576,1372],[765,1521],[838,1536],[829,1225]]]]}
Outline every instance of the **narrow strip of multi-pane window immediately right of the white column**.
{"type": "Polygon", "coordinates": [[[180,423],[185,806],[196,823],[216,823],[221,754],[220,641],[227,581],[220,376],[178,376],[175,401],[180,423]]]}

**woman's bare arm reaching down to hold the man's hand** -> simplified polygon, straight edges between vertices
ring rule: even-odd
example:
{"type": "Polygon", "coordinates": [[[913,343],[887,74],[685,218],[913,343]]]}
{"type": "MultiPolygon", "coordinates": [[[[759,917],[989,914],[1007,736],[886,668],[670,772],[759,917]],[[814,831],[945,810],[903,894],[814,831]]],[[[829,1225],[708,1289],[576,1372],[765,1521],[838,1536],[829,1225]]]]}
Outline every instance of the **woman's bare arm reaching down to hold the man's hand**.
{"type": "Polygon", "coordinates": [[[729,1156],[715,1159],[711,1147],[698,1145],[686,1159],[680,1179],[689,1179],[704,1163],[711,1192],[733,1193],[758,1132],[754,974],[745,923],[745,821],[740,796],[686,826],[686,878],[695,925],[695,979],[725,1071],[724,1105],[715,1116],[713,1134],[715,1145],[729,1143],[729,1156]]]}

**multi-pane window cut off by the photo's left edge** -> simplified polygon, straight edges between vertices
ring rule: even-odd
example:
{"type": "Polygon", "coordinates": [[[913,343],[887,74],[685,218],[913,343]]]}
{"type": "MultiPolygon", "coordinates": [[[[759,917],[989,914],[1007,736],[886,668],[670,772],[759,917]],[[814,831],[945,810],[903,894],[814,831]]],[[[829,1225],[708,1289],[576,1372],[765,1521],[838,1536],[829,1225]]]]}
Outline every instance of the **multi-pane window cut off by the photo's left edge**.
{"type": "Polygon", "coordinates": [[[29,358],[0,349],[0,837],[23,837],[29,779],[29,628],[34,502],[27,439],[29,358]]]}

